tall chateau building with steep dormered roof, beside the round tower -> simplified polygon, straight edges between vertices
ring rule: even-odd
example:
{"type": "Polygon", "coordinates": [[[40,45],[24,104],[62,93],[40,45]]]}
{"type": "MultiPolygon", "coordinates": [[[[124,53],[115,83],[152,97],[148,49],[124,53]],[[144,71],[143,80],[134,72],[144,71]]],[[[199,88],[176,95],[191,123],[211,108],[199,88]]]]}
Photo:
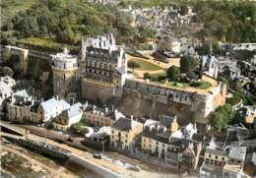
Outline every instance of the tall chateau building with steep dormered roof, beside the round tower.
{"type": "Polygon", "coordinates": [[[125,52],[116,46],[113,34],[82,40],[80,77],[83,97],[106,100],[124,86],[126,75],[125,52]]]}

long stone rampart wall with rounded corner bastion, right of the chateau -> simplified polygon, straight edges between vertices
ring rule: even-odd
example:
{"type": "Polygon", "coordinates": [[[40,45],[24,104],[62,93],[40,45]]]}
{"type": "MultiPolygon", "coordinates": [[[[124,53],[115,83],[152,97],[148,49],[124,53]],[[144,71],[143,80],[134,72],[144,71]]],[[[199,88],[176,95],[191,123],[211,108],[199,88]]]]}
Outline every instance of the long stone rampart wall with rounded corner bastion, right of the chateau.
{"type": "Polygon", "coordinates": [[[119,109],[135,116],[158,118],[160,114],[171,114],[181,122],[206,124],[210,113],[224,105],[224,98],[225,85],[217,82],[215,87],[197,92],[126,80],[119,109]]]}

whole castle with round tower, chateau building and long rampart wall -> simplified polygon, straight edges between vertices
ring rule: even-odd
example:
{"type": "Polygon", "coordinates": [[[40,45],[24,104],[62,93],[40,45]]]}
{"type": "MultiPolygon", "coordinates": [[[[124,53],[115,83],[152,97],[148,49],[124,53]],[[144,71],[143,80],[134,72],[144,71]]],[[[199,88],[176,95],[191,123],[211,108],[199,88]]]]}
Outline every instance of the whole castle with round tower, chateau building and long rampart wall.
{"type": "Polygon", "coordinates": [[[81,94],[82,98],[118,107],[124,114],[158,118],[177,115],[197,123],[208,123],[208,116],[225,102],[225,86],[210,76],[209,89],[177,89],[145,80],[127,78],[124,50],[113,34],[82,39],[81,55],[53,57],[54,94],[62,97],[81,94]]]}

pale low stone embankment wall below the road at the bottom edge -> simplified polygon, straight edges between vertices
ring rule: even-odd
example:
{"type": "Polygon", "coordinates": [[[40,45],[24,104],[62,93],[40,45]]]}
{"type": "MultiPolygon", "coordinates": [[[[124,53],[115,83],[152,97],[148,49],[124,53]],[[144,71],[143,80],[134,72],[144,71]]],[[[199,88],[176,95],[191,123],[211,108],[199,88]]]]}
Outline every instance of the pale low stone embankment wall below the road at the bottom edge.
{"type": "Polygon", "coordinates": [[[96,163],[86,159],[86,158],[83,158],[83,157],[80,157],[78,156],[77,154],[74,154],[74,153],[71,153],[70,154],[70,160],[75,162],[75,163],[78,163],[86,168],[89,168],[93,171],[95,171],[97,174],[99,174],[100,176],[102,177],[106,177],[106,178],[121,178],[121,177],[124,177],[124,176],[121,176],[105,167],[102,167],[100,165],[97,165],[96,163]]]}

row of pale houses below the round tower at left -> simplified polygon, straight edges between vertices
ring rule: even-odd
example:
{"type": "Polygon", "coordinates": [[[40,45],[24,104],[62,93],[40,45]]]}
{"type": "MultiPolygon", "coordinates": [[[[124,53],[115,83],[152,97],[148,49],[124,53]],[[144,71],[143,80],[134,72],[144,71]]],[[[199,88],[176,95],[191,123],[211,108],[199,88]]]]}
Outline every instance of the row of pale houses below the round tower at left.
{"type": "Polygon", "coordinates": [[[67,131],[72,124],[86,118],[96,127],[111,126],[124,115],[118,110],[98,108],[96,105],[80,102],[70,105],[64,99],[52,97],[48,100],[34,100],[26,89],[10,93],[6,98],[7,117],[20,123],[36,125],[52,124],[60,131],[67,131]]]}

